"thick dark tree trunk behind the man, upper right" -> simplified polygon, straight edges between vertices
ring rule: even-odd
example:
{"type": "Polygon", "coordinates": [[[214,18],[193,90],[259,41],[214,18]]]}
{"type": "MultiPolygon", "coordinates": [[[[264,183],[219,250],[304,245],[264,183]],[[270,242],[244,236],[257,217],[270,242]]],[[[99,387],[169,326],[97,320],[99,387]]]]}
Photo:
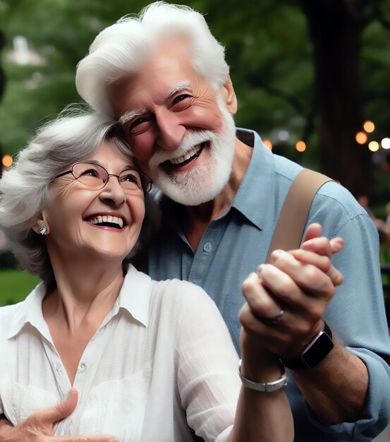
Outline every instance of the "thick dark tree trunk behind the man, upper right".
{"type": "Polygon", "coordinates": [[[356,132],[362,130],[362,1],[301,0],[301,4],[314,48],[322,172],[355,196],[370,195],[370,151],[355,141],[356,132]]]}

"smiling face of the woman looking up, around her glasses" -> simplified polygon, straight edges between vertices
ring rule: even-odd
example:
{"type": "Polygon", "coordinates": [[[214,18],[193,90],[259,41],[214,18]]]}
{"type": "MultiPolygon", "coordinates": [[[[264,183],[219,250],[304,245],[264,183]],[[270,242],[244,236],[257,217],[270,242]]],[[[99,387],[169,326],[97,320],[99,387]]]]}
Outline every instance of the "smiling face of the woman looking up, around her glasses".
{"type": "MultiPolygon", "coordinates": [[[[109,174],[135,169],[109,142],[104,142],[85,161],[95,162],[109,174]]],[[[71,167],[66,167],[66,172],[71,167]]],[[[145,216],[142,189],[126,190],[118,178],[109,176],[102,189],[81,183],[73,174],[54,179],[51,204],[44,210],[49,227],[46,237],[51,260],[84,257],[123,261],[137,242],[145,216]],[[112,217],[112,218],[111,218],[112,217]]]]}

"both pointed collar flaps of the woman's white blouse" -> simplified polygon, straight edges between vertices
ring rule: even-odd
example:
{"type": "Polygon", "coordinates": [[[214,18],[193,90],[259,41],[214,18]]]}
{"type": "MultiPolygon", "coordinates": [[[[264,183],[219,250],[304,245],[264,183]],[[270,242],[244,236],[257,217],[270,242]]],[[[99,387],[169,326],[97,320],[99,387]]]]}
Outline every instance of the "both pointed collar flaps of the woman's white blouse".
{"type": "MultiPolygon", "coordinates": [[[[106,321],[109,321],[109,319],[115,316],[119,309],[122,308],[126,309],[136,321],[139,321],[147,327],[149,323],[151,293],[152,279],[148,275],[145,275],[145,273],[138,272],[133,265],[129,265],[128,272],[123,280],[121,292],[119,292],[118,299],[111,310],[111,314],[107,316],[106,321]]],[[[46,284],[40,282],[28,297],[26,297],[23,302],[20,302],[8,331],[8,339],[20,333],[24,325],[30,323],[44,338],[51,342],[49,328],[42,314],[42,301],[45,294],[46,284]]],[[[104,321],[104,323],[106,323],[106,321],[104,321]]]]}

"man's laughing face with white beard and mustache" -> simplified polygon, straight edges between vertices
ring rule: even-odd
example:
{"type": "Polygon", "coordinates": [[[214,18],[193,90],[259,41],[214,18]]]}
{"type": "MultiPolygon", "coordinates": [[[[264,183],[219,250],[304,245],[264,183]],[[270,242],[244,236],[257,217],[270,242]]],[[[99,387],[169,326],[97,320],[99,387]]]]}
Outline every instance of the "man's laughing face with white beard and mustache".
{"type": "Polygon", "coordinates": [[[193,69],[188,48],[161,44],[142,71],[109,87],[111,105],[140,165],[174,201],[212,200],[231,172],[235,127],[224,87],[193,69]]]}

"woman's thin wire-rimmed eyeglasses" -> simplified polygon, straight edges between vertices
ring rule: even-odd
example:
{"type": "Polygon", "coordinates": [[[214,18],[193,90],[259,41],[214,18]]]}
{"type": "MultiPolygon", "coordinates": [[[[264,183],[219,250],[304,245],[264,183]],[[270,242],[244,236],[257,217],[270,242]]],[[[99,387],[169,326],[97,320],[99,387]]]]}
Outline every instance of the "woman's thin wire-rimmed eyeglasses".
{"type": "Polygon", "coordinates": [[[109,177],[116,177],[125,192],[137,189],[148,192],[152,188],[152,180],[142,172],[138,172],[138,170],[126,169],[118,175],[109,174],[103,166],[94,162],[75,162],[71,170],[56,175],[54,179],[67,174],[72,174],[80,183],[95,190],[103,189],[109,182],[109,177]]]}

